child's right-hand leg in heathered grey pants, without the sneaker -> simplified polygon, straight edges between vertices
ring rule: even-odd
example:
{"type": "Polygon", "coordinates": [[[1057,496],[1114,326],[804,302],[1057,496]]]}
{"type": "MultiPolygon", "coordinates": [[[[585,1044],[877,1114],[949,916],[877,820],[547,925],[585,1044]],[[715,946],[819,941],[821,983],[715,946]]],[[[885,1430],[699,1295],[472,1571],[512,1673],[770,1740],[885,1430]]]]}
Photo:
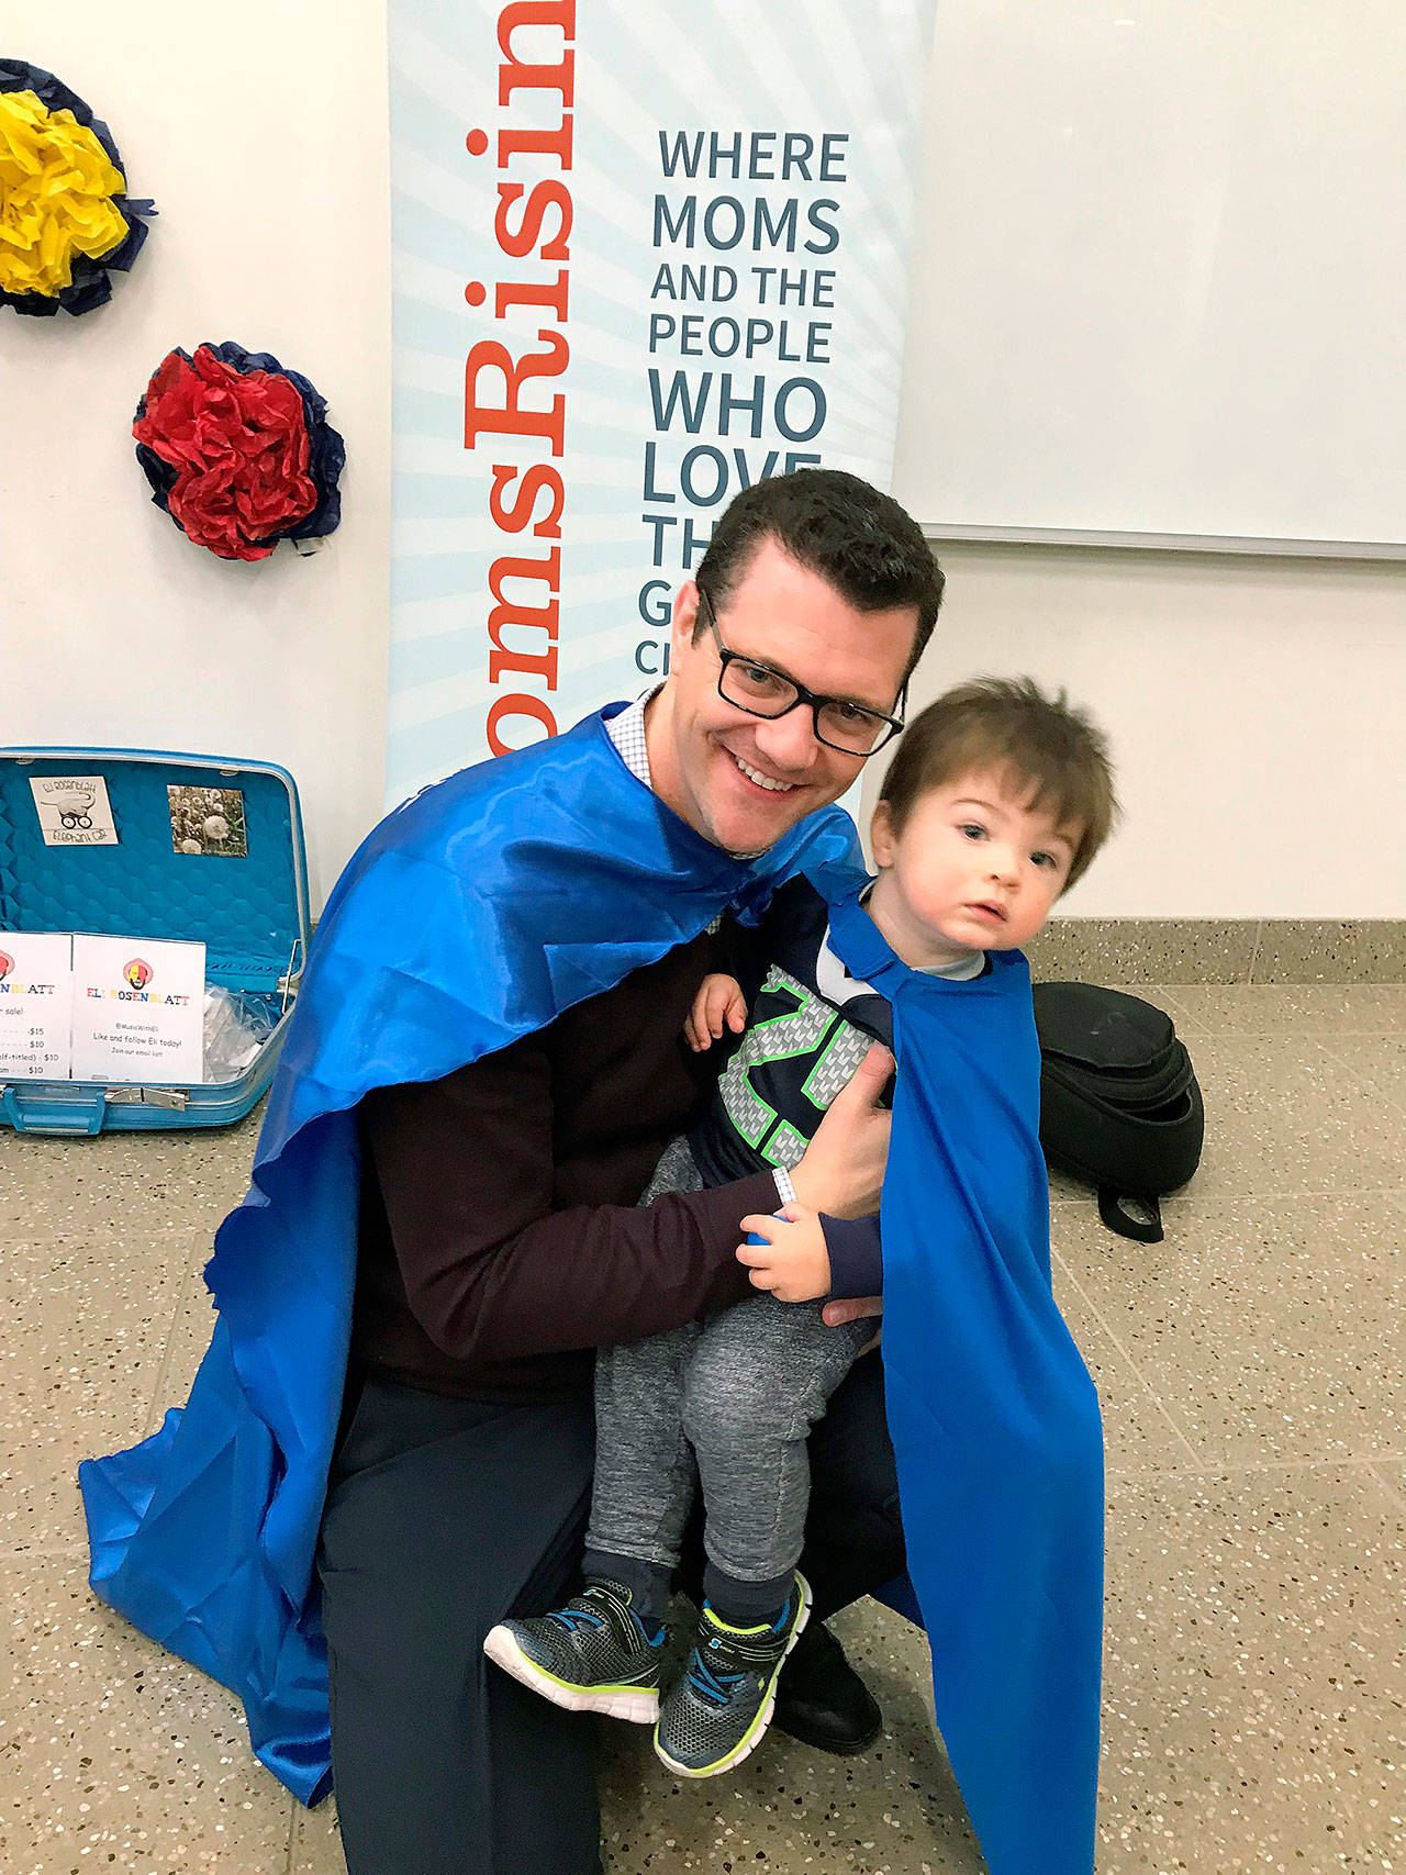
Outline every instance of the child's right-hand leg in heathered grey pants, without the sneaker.
{"type": "Polygon", "coordinates": [[[703,1590],[725,1622],[770,1620],[785,1603],[810,1504],[806,1438],[872,1331],[827,1328],[821,1303],[755,1296],[699,1337],[684,1432],[707,1508],[703,1590]]]}

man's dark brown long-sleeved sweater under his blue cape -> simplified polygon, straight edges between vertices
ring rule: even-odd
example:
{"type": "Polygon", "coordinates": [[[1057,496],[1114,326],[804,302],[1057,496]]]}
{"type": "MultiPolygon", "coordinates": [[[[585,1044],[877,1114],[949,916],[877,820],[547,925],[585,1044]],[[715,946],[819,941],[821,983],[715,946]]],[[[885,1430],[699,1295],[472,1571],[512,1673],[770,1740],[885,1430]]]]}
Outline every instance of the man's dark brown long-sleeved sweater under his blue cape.
{"type": "Polygon", "coordinates": [[[770,1174],[636,1209],[712,1093],[682,1026],[731,968],[705,934],[444,1080],[366,1097],[356,1374],[561,1399],[591,1389],[600,1344],[748,1294],[739,1221],[776,1209],[770,1174]]]}

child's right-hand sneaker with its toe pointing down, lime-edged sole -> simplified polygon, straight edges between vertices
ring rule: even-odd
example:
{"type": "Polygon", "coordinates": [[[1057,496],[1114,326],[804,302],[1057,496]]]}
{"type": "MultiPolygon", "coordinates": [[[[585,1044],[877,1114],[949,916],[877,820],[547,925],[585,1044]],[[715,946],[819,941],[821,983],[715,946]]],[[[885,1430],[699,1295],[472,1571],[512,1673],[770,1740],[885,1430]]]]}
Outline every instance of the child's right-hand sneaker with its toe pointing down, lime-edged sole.
{"type": "Polygon", "coordinates": [[[770,1725],[782,1661],[800,1639],[810,1588],[797,1575],[770,1628],[729,1628],[703,1603],[684,1676],[654,1727],[654,1751],[679,1778],[716,1778],[755,1749],[770,1725]]]}

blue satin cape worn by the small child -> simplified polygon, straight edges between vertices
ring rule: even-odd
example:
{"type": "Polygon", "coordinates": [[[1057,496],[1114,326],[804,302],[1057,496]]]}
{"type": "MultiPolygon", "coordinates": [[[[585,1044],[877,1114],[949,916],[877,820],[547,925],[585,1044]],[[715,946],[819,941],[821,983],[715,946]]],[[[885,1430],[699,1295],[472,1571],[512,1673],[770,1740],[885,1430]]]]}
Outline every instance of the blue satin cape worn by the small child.
{"type": "Polygon", "coordinates": [[[1091,1875],[1102,1423],[1050,1288],[1029,968],[913,971],[847,879],[812,878],[894,1011],[885,1401],[937,1725],[992,1875],[1091,1875]]]}

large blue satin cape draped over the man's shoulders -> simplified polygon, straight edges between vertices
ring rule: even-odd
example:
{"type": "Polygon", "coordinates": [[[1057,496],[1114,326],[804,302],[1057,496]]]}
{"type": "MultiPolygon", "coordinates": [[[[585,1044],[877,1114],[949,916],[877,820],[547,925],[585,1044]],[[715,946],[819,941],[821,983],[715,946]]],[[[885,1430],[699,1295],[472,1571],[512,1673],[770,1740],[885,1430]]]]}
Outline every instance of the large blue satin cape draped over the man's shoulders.
{"type": "Polygon", "coordinates": [[[418,795],[337,881],[249,1194],[206,1268],[219,1314],[189,1401],[79,1466],[94,1590],[240,1695],[253,1749],[302,1802],[330,1781],[313,1558],[351,1333],[356,1104],[544,1028],[725,906],[755,917],[819,862],[857,864],[838,808],[731,859],[589,716],[418,795]]]}

